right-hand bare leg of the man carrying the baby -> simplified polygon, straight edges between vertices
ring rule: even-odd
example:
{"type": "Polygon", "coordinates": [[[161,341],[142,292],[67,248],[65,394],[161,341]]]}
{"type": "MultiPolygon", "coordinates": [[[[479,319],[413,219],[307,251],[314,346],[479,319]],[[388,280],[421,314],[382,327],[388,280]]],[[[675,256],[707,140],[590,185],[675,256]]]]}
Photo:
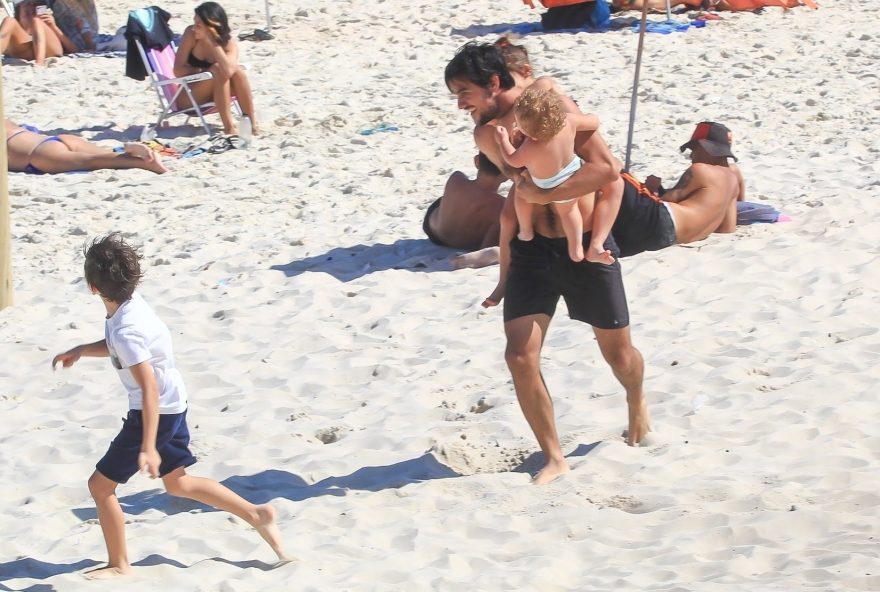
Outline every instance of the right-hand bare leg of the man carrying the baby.
{"type": "Polygon", "coordinates": [[[593,327],[602,357],[611,366],[615,378],[626,390],[629,411],[629,427],[626,443],[635,446],[651,431],[651,418],[645,399],[643,382],[645,362],[630,337],[629,327],[622,329],[599,329],[593,327]]]}

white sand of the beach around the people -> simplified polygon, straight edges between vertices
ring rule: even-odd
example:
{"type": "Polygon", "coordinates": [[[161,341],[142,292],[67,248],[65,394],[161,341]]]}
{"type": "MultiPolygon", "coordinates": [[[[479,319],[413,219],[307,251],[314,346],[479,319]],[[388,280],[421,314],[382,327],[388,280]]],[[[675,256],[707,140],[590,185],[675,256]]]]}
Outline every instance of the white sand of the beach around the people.
{"type": "MultiPolygon", "coordinates": [[[[261,2],[224,4],[240,29],[265,26],[261,2]]],[[[647,447],[624,444],[622,389],[560,305],[544,371],[573,471],[538,488],[501,313],[479,307],[497,268],[448,271],[420,227],[448,174],[472,170],[472,125],[443,83],[467,39],[450,31],[539,12],[297,4],[273,2],[275,41],[242,43],[265,132],[249,151],[163,176],[10,175],[0,590],[119,589],[79,572],[106,558],[86,479],[126,398],[105,361],[49,367],[102,336],[80,249],[111,230],[143,247],[141,291],[172,328],[193,472],[271,500],[301,560],[269,570],[247,525],[136,477],[120,489],[138,574],[124,590],[880,589],[873,7],[725,14],[648,37],[633,172],[674,178],[693,125],[722,121],[749,198],[794,220],[625,261],[647,447]],[[358,135],[381,122],[400,129],[358,135]]],[[[194,5],[174,6],[176,30],[194,5]]],[[[102,29],[139,6],[102,3],[102,29]]],[[[523,40],[621,157],[636,41],[523,40]]],[[[6,113],[135,139],[155,97],[123,63],[7,64],[6,113]]],[[[162,132],[178,147],[198,133],[162,132]]]]}

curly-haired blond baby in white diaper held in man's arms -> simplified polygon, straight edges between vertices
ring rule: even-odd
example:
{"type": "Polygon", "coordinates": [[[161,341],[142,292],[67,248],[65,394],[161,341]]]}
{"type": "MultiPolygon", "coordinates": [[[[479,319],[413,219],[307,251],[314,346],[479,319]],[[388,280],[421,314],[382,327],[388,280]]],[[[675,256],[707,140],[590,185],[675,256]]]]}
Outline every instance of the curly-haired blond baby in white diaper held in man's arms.
{"type": "MultiPolygon", "coordinates": [[[[592,114],[566,113],[562,98],[554,91],[533,85],[526,88],[513,105],[517,129],[526,137],[519,148],[514,148],[504,126],[497,126],[496,140],[501,156],[508,165],[528,169],[532,182],[542,189],[552,189],[571,177],[580,167],[581,160],[574,153],[577,132],[595,131],[599,119],[592,114]]],[[[532,204],[516,198],[514,202],[519,223],[517,237],[522,241],[534,238],[532,204]]],[[[584,260],[582,244],[584,221],[577,207],[577,199],[553,202],[559,214],[568,254],[572,261],[584,260]]],[[[595,216],[595,214],[594,214],[595,216]]],[[[594,220],[595,226],[601,222],[594,220]]],[[[611,264],[614,257],[601,242],[591,241],[587,261],[611,264]]]]}

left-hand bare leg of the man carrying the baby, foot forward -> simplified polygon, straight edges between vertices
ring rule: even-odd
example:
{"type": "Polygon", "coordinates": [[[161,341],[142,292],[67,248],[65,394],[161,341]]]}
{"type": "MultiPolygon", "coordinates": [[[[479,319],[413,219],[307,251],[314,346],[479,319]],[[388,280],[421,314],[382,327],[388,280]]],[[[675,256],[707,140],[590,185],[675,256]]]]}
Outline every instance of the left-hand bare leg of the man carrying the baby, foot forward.
{"type": "Polygon", "coordinates": [[[544,453],[544,467],[533,480],[536,485],[549,483],[569,471],[556,433],[553,401],[541,376],[541,347],[549,325],[547,315],[529,315],[504,323],[507,336],[504,358],[513,378],[516,398],[544,453]]]}

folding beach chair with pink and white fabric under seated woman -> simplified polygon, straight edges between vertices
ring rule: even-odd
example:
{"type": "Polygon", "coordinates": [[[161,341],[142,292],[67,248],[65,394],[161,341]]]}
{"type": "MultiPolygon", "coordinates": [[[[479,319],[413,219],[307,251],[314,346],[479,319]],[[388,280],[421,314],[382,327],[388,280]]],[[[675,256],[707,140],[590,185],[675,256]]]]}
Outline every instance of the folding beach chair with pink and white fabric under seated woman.
{"type": "MultiPolygon", "coordinates": [[[[156,96],[159,99],[159,107],[162,112],[159,119],[156,120],[155,127],[158,128],[163,121],[175,115],[186,115],[189,117],[198,117],[202,122],[205,133],[211,133],[211,129],[205,122],[205,115],[216,113],[217,109],[213,102],[205,102],[198,104],[193,98],[190,85],[201,80],[210,80],[213,75],[210,72],[199,72],[198,74],[190,74],[189,76],[174,76],[174,56],[177,53],[177,47],[174,43],[169,43],[162,49],[144,49],[140,40],[134,40],[138,53],[144,62],[147,74],[150,78],[150,86],[156,90],[156,96]],[[181,93],[186,93],[189,97],[192,107],[178,106],[177,99],[181,93]]],[[[242,115],[241,106],[238,99],[232,97],[232,107],[239,117],[242,115]]]]}

